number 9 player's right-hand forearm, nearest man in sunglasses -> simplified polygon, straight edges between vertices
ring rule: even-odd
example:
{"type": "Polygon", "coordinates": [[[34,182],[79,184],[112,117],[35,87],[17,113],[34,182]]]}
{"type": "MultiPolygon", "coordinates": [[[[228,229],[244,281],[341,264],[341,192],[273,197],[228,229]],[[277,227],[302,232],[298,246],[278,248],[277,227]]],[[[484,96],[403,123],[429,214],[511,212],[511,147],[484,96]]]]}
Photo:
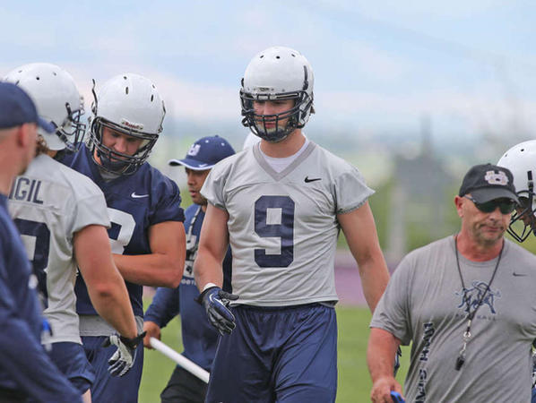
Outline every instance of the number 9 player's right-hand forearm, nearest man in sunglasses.
{"type": "Polygon", "coordinates": [[[363,294],[370,312],[374,313],[389,282],[389,270],[380,251],[370,255],[368,259],[361,259],[358,263],[363,294]]]}

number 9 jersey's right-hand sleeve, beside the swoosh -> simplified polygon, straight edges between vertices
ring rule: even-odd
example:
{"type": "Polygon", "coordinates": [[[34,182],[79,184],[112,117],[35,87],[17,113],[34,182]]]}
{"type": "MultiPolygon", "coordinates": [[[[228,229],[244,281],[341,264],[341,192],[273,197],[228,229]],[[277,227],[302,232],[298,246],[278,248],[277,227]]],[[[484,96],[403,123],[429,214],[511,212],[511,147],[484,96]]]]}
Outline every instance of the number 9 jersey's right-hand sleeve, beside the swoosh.
{"type": "Polygon", "coordinates": [[[334,194],[337,202],[336,213],[344,214],[359,209],[374,191],[365,184],[358,168],[350,167],[335,178],[334,194]]]}

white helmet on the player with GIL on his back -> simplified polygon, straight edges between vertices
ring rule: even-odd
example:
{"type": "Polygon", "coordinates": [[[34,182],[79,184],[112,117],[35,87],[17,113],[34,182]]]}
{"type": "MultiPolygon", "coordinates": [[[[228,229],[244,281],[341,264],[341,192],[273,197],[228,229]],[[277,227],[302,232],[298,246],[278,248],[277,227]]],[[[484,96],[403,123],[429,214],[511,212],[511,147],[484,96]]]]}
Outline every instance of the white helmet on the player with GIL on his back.
{"type": "Polygon", "coordinates": [[[56,125],[56,133],[38,128],[50,150],[76,150],[86,126],[80,122],[83,100],[71,74],[56,64],[24,64],[8,73],[5,81],[22,87],[37,107],[39,116],[56,125]]]}

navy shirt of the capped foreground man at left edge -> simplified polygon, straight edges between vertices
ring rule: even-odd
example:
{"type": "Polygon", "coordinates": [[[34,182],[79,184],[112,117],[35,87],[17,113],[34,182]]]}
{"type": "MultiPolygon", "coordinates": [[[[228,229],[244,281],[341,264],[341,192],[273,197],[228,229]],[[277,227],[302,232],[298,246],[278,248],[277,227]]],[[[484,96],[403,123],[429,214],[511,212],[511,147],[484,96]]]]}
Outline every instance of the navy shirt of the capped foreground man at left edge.
{"type": "Polygon", "coordinates": [[[0,194],[0,388],[41,401],[80,401],[40,345],[37,278],[0,194]]]}

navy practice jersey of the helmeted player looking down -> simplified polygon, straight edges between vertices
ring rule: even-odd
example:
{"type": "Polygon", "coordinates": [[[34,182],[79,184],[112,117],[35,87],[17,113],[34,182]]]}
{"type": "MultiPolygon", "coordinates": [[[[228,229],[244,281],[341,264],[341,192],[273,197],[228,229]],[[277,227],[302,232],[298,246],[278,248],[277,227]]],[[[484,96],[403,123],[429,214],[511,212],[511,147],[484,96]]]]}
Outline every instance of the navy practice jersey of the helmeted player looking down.
{"type": "MultiPolygon", "coordinates": [[[[148,163],[144,163],[133,175],[105,181],[85,145],[78,152],[65,155],[62,162],[89,176],[104,193],[111,221],[108,236],[112,253],[151,253],[149,227],[165,221],[184,221],[177,184],[148,163]]],[[[134,314],[143,316],[143,286],[125,283],[134,314]]],[[[75,291],[77,312],[97,314],[82,276],[76,279],[75,291]]]]}

